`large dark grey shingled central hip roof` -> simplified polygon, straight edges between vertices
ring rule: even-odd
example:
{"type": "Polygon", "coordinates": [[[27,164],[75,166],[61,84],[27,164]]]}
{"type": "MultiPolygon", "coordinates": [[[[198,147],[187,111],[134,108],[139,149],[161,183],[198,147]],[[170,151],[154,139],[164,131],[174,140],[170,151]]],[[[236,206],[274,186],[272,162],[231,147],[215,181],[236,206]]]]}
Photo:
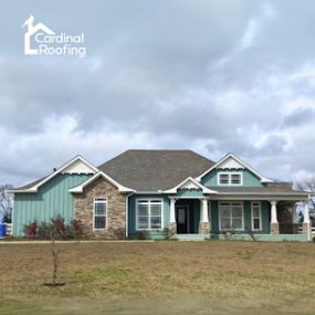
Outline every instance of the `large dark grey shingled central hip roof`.
{"type": "Polygon", "coordinates": [[[213,165],[191,150],[127,150],[98,168],[123,186],[146,192],[174,188],[213,165]]]}

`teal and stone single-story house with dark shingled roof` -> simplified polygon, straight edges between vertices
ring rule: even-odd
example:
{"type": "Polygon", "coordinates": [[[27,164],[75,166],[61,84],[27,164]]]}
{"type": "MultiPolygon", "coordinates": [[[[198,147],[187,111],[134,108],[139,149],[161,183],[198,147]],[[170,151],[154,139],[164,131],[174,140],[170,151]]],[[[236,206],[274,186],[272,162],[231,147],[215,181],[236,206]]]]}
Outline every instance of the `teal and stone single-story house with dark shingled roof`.
{"type": "Polygon", "coordinates": [[[306,241],[308,195],[264,177],[232,154],[218,162],[191,150],[127,150],[96,167],[76,156],[49,176],[11,190],[13,235],[57,214],[86,234],[306,241]],[[298,233],[295,204],[304,204],[298,233]]]}

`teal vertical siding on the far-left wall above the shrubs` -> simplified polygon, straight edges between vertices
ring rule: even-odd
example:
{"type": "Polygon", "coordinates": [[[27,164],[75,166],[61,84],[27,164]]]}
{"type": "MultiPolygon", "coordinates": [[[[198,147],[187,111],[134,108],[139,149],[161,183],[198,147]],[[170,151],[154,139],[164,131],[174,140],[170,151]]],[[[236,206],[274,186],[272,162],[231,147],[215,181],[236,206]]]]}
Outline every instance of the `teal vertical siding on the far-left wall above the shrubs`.
{"type": "Polygon", "coordinates": [[[32,221],[48,222],[55,216],[66,221],[74,217],[73,196],[69,192],[91,175],[56,175],[35,193],[15,193],[13,210],[13,235],[22,237],[24,224],[32,221]]]}

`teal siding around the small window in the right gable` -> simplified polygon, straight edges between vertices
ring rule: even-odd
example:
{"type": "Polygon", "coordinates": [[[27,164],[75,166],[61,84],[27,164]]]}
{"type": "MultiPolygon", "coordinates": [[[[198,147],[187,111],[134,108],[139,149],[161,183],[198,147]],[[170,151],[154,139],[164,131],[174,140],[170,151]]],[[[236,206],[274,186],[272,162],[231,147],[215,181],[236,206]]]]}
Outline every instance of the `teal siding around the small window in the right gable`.
{"type": "Polygon", "coordinates": [[[243,175],[243,186],[246,187],[259,187],[259,186],[263,186],[260,181],[260,179],[252,174],[250,170],[248,169],[237,169],[237,170],[227,170],[227,169],[213,169],[210,172],[208,172],[207,175],[204,175],[201,178],[201,183],[203,186],[207,187],[211,187],[211,186],[218,186],[218,172],[225,172],[225,171],[238,171],[238,172],[242,172],[243,175]]]}

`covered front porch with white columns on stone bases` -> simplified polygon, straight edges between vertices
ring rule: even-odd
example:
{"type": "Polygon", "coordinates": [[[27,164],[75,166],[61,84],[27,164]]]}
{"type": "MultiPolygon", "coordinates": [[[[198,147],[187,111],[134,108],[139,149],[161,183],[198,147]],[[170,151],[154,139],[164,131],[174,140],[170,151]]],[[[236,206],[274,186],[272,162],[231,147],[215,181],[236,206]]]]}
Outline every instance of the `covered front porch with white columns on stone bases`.
{"type": "Polygon", "coordinates": [[[312,235],[307,201],[302,224],[295,200],[170,197],[169,202],[169,230],[178,240],[308,241],[312,235]]]}

